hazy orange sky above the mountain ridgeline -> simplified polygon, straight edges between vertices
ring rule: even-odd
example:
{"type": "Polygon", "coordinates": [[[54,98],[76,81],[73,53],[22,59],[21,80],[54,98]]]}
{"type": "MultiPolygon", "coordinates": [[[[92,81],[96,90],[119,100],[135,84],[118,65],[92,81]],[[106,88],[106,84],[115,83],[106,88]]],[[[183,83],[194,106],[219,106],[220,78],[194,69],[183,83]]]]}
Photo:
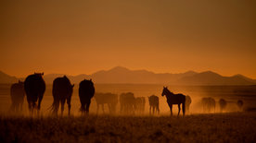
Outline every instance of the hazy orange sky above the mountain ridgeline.
{"type": "Polygon", "coordinates": [[[1,1],[0,70],[92,74],[113,66],[256,78],[256,1],[1,1]]]}

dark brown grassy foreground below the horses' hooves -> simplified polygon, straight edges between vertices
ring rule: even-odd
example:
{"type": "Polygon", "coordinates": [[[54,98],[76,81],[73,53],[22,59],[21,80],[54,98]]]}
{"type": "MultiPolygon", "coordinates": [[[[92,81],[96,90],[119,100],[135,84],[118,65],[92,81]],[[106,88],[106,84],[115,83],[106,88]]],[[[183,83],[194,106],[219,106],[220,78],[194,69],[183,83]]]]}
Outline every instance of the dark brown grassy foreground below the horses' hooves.
{"type": "Polygon", "coordinates": [[[0,142],[255,142],[256,113],[0,116],[0,142]]]}

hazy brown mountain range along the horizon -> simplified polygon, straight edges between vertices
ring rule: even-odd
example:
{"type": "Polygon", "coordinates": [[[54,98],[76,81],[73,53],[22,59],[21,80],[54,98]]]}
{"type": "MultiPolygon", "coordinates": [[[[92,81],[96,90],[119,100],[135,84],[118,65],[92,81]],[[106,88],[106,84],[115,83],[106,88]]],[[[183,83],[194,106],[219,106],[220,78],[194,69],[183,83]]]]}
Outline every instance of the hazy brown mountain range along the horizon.
{"type": "MultiPolygon", "coordinates": [[[[56,77],[64,74],[46,74],[47,84],[52,84],[56,77]]],[[[71,83],[78,84],[84,78],[92,78],[95,83],[101,84],[164,84],[164,85],[256,85],[256,80],[242,75],[224,77],[212,71],[197,73],[157,74],[147,70],[130,70],[122,66],[116,66],[109,70],[100,70],[92,75],[81,74],[69,76],[71,83]]],[[[23,78],[12,77],[0,71],[0,83],[14,83],[23,78]]]]}

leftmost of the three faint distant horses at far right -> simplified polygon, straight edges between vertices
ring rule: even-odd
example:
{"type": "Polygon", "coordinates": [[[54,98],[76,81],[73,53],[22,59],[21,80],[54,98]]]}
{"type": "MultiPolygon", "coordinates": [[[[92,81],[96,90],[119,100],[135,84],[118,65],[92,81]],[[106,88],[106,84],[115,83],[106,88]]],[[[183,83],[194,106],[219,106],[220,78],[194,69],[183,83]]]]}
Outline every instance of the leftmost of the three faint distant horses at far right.
{"type": "Polygon", "coordinates": [[[214,99],[212,99],[211,97],[202,98],[201,102],[202,102],[202,107],[203,107],[204,113],[211,113],[212,110],[215,113],[216,102],[214,99]]]}

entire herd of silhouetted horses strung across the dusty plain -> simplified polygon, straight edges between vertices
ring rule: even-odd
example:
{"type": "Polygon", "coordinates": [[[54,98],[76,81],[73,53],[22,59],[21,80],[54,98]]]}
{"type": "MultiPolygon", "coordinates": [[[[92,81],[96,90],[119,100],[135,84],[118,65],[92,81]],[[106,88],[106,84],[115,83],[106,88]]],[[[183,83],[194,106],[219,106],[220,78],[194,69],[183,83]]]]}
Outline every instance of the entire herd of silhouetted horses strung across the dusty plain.
{"type": "MultiPolygon", "coordinates": [[[[39,113],[41,107],[41,101],[43,100],[45,93],[45,80],[43,78],[44,73],[34,73],[25,78],[24,82],[18,82],[11,86],[11,110],[19,111],[22,108],[22,103],[24,97],[27,96],[27,101],[29,105],[29,111],[31,114],[34,110],[39,113]]],[[[61,106],[61,115],[64,111],[64,104],[67,101],[68,113],[70,114],[71,108],[71,96],[73,92],[74,85],[70,83],[70,79],[66,76],[57,77],[53,81],[53,103],[51,111],[53,114],[58,114],[59,104],[61,106]]],[[[167,87],[163,87],[161,96],[165,96],[167,103],[170,107],[171,115],[173,115],[173,104],[178,105],[178,115],[181,111],[183,115],[189,112],[189,106],[192,102],[189,96],[184,94],[174,94],[167,87]]],[[[95,87],[93,81],[84,79],[79,84],[79,99],[81,102],[81,112],[89,113],[91,99],[96,100],[96,113],[98,113],[101,106],[102,112],[104,113],[104,104],[108,105],[109,113],[116,113],[116,108],[118,102],[120,102],[120,113],[122,114],[142,114],[145,112],[146,99],[145,97],[134,97],[134,93],[126,92],[122,93],[120,96],[113,93],[95,93],[95,87]]],[[[160,101],[159,97],[156,95],[151,95],[148,97],[149,102],[149,114],[160,113],[160,101]]],[[[202,98],[201,100],[203,111],[210,113],[211,110],[215,111],[215,100],[212,98],[202,98]]],[[[226,101],[221,99],[219,101],[221,112],[226,106],[226,101]]],[[[243,106],[243,101],[237,101],[238,107],[241,109],[243,106]]]]}

